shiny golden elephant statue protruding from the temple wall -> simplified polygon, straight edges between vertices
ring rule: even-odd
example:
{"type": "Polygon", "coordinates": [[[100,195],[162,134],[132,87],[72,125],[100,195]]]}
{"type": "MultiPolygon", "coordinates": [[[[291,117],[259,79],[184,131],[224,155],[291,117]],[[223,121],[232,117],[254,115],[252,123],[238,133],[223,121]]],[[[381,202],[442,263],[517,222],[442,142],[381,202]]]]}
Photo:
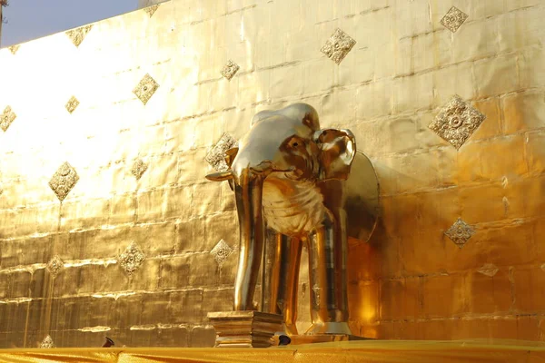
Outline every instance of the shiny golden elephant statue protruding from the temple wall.
{"type": "MultiPolygon", "coordinates": [[[[263,266],[261,310],[282,314],[285,332],[297,334],[297,288],[304,243],[309,251],[312,290],[312,326],[306,333],[352,335],[348,325],[347,239],[350,234],[362,240],[362,227],[369,225],[362,219],[373,219],[365,215],[370,205],[365,188],[356,186],[351,192],[346,182],[356,156],[371,164],[356,152],[352,132],[321,130],[318,113],[308,104],[295,103],[253,117],[239,146],[226,152],[230,169],[207,176],[217,182],[228,180],[235,194],[240,255],[234,310],[255,309],[253,294],[266,245],[272,262],[266,270],[263,266]],[[349,214],[355,217],[353,221],[349,214]]],[[[374,172],[373,177],[376,190],[374,172]]]]}

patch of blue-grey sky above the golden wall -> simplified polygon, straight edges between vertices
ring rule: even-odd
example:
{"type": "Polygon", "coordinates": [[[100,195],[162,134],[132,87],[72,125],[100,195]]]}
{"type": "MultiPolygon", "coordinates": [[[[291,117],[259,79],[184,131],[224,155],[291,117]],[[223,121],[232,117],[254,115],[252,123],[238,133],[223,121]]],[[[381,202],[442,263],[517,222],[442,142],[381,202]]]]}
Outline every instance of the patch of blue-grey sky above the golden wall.
{"type": "Polygon", "coordinates": [[[2,47],[124,14],[137,5],[137,0],[10,0],[2,47]]]}

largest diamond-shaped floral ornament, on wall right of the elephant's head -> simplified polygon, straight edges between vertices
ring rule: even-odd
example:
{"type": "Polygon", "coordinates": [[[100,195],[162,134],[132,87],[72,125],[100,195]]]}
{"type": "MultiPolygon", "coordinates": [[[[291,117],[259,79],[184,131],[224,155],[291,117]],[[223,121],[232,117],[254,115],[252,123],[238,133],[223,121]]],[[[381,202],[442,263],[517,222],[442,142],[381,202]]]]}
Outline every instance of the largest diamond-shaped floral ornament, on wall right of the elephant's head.
{"type": "Polygon", "coordinates": [[[428,126],[452,146],[460,149],[471,134],[477,130],[486,116],[454,95],[428,126]]]}

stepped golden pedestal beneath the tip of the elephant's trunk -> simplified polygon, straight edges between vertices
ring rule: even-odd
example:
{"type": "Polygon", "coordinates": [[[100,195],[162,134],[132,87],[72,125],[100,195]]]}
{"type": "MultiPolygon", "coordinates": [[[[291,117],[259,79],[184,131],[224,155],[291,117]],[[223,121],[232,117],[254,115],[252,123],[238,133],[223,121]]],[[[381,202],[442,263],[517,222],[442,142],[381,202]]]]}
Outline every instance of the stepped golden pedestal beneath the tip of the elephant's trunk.
{"type": "Polygon", "coordinates": [[[218,348],[268,348],[272,337],[282,330],[282,315],[259,311],[225,311],[208,313],[216,331],[218,348]]]}

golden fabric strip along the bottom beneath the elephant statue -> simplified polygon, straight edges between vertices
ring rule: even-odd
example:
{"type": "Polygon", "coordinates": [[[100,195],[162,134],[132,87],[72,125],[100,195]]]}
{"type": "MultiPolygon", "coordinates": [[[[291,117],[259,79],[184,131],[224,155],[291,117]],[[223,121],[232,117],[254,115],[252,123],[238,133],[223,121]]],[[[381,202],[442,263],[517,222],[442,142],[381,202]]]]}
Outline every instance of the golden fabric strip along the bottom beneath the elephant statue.
{"type": "Polygon", "coordinates": [[[545,344],[530,341],[344,341],[275,348],[54,348],[0,350],[0,362],[538,362],[545,344]]]}

